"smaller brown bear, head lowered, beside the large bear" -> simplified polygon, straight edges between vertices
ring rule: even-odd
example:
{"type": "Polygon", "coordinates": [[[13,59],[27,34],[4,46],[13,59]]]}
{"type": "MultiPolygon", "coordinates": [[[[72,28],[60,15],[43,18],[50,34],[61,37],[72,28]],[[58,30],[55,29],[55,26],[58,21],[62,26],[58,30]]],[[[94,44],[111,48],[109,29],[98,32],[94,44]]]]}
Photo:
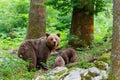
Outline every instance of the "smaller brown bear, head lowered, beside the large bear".
{"type": "Polygon", "coordinates": [[[67,49],[65,49],[63,51],[59,51],[58,53],[59,53],[58,55],[61,56],[62,58],[57,57],[55,59],[55,66],[63,65],[64,62],[65,62],[65,65],[66,65],[66,64],[73,63],[73,62],[76,61],[76,58],[77,58],[76,57],[76,51],[74,49],[72,49],[72,48],[67,48],[67,49]],[[59,63],[59,65],[58,65],[58,63],[59,63]]]}

